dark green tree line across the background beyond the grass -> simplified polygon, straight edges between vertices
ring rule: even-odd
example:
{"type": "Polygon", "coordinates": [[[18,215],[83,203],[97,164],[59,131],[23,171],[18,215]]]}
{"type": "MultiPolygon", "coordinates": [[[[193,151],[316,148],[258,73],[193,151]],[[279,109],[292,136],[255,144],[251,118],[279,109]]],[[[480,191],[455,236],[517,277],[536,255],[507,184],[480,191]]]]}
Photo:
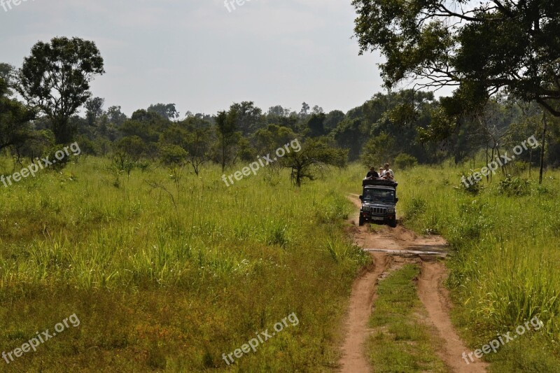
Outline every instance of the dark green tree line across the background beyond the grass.
{"type": "MultiPolygon", "coordinates": [[[[209,162],[225,170],[300,139],[301,154],[283,160],[302,176],[300,184],[314,178],[309,169],[297,172],[309,158],[339,167],[356,161],[377,167],[437,164],[447,158],[460,163],[481,150],[491,157],[544,134],[544,162],[560,164],[557,120],[535,101],[514,94],[498,92],[469,110],[455,96],[436,99],[431,92],[400,90],[374,94],[347,113],[325,113],[306,102],[300,111],[280,105],[263,111],[243,101],[214,115],[183,116],[175,104],[158,103],[129,118],[120,106],[106,107],[103,98],[92,96],[90,82],[103,73],[96,45],[80,38],[36,43],[20,69],[0,64],[0,152],[20,160],[78,141],[83,153],[111,157],[129,173],[151,160],[199,174],[209,162]],[[551,118],[543,120],[545,115],[551,118]]],[[[519,160],[538,164],[539,154],[524,153],[519,160]]]]}

